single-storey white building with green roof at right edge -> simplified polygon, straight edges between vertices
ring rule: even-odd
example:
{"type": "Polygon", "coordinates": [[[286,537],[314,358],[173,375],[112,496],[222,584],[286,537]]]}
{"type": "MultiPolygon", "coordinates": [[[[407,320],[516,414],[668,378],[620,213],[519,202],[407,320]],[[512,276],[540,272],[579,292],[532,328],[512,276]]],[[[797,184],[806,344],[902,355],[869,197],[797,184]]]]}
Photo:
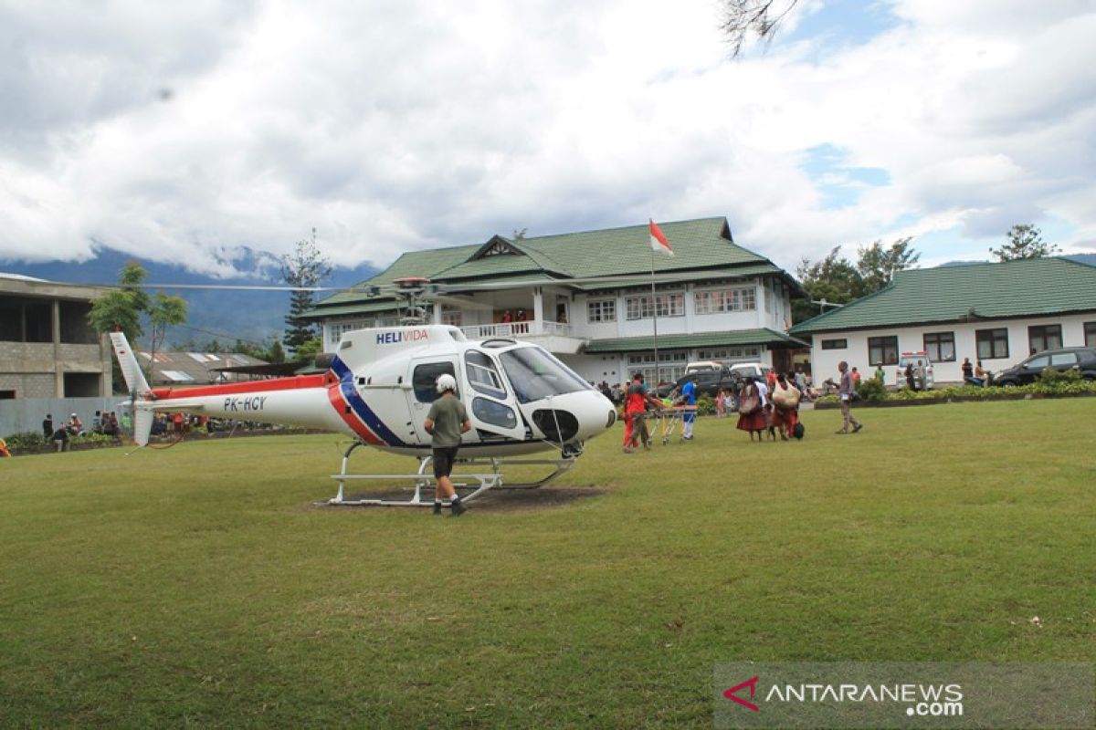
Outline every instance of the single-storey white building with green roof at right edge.
{"type": "Polygon", "coordinates": [[[903,352],[925,351],[936,382],[962,382],[963,358],[998,372],[1029,355],[1096,347],[1096,267],[1062,257],[900,271],[874,294],[800,322],[815,380],[842,360],[887,383],[903,352]]]}

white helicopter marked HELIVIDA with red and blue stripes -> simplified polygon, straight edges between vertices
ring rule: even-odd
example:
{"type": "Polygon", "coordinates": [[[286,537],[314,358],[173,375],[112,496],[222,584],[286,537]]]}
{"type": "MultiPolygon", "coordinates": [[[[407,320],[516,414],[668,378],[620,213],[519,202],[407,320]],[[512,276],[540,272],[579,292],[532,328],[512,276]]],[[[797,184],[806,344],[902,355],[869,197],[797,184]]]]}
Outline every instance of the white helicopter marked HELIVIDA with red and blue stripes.
{"type": "Polygon", "coordinates": [[[423,489],[432,437],[423,421],[438,397],[435,382],[453,375],[468,410],[471,430],[463,437],[465,465],[487,470],[456,474],[465,501],[493,488],[536,488],[567,472],[582,454],[586,440],[612,428],[617,414],[612,402],[550,352],[533,343],[495,337],[468,339],[454,326],[425,324],[418,298],[429,279],[395,282],[407,298],[407,315],[398,326],[368,327],[343,333],[333,352],[316,364],[323,372],[264,381],[197,387],[149,386],[125,335],[111,341],[132,397],[134,439],[147,445],[156,413],[261,420],[342,433],[354,439],[332,478],[339,491],[332,505],[429,506],[423,489]],[[351,454],[367,445],[419,460],[414,474],[350,472],[351,454]],[[552,457],[524,459],[555,452],[552,457]],[[504,483],[505,465],[549,466],[535,482],[504,483]],[[354,479],[408,480],[409,499],[358,498],[346,494],[354,479]],[[461,480],[465,479],[465,480],[461,480]]]}

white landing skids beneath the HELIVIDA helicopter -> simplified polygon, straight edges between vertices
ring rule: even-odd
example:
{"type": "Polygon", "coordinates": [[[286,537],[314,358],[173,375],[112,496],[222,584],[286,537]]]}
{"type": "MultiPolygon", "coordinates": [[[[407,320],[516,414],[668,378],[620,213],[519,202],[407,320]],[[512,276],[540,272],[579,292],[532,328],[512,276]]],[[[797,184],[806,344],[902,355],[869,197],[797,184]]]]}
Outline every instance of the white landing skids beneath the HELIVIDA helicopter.
{"type": "MultiPolygon", "coordinates": [[[[331,478],[339,482],[339,494],[328,500],[329,505],[344,507],[430,507],[434,503],[434,484],[437,479],[427,472],[433,456],[419,457],[419,471],[414,474],[351,474],[350,455],[358,447],[364,445],[361,441],[354,442],[343,454],[342,471],[332,474],[331,478]],[[414,485],[414,494],[410,499],[346,499],[346,482],[410,482],[414,485]],[[424,494],[425,490],[425,494],[424,494]]],[[[458,459],[457,464],[461,466],[489,466],[490,472],[454,472],[453,486],[460,495],[461,501],[470,502],[480,495],[491,489],[536,489],[541,487],[559,475],[568,472],[574,465],[578,454],[572,454],[561,459],[458,459]],[[535,482],[515,482],[513,484],[503,483],[502,467],[512,466],[551,466],[552,471],[545,477],[535,482]],[[468,491],[471,490],[471,491],[468,491]]]]}

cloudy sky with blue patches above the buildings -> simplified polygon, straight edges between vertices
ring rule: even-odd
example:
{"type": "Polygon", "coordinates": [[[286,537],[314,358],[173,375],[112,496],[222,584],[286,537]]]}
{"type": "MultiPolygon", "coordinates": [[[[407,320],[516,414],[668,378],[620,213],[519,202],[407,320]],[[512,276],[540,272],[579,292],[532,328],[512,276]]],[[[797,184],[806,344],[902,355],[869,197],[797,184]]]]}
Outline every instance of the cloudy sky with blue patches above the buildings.
{"type": "Polygon", "coordinates": [[[1096,250],[1096,4],[0,0],[0,258],[226,270],[726,216],[786,267],[1096,250]],[[220,262],[220,263],[218,263],[220,262]]]}

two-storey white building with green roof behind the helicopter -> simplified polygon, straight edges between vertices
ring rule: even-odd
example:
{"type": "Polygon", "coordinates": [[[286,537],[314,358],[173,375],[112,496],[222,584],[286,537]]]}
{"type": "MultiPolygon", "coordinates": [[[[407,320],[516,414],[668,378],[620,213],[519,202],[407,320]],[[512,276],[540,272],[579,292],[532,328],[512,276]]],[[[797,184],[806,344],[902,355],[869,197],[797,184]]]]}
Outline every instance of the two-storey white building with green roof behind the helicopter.
{"type": "Polygon", "coordinates": [[[760,360],[790,366],[791,299],[806,296],[787,271],[734,243],[726,218],[660,223],[674,256],[654,254],[651,293],[648,227],[518,240],[494,235],[466,246],[401,255],[372,279],[312,309],[324,348],[344,332],[397,324],[400,302],[388,296],[404,277],[426,277],[444,290],[434,322],[472,339],[514,337],[539,343],[593,382],[629,373],[654,376],[654,313],[663,380],[693,360],[760,360]]]}

